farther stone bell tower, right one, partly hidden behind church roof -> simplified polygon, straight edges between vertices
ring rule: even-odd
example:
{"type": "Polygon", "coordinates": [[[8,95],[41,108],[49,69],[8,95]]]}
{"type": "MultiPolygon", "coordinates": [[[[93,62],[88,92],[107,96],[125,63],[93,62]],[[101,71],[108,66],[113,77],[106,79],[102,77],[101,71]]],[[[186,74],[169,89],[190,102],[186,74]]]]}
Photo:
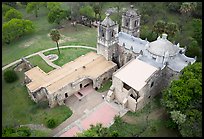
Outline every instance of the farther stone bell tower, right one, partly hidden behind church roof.
{"type": "Polygon", "coordinates": [[[133,5],[131,8],[124,12],[122,15],[122,27],[121,32],[125,32],[135,37],[140,36],[140,17],[134,10],[133,5]]]}

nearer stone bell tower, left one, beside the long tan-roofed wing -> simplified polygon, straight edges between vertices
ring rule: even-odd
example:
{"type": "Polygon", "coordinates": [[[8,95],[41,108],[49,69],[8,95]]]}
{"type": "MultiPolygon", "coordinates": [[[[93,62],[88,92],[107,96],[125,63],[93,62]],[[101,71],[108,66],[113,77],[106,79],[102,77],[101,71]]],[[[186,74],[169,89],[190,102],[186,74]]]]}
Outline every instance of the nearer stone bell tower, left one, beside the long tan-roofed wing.
{"type": "Polygon", "coordinates": [[[106,60],[113,60],[118,46],[118,24],[110,19],[110,14],[98,25],[97,54],[106,60]]]}

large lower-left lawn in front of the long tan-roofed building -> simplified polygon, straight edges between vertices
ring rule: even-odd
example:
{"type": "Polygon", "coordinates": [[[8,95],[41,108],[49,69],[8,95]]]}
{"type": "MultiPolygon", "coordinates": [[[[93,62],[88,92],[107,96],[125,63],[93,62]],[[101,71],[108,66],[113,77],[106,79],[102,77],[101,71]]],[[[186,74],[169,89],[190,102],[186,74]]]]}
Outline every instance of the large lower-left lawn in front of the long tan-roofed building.
{"type": "Polygon", "coordinates": [[[2,77],[2,127],[24,124],[46,124],[46,120],[54,118],[57,125],[72,115],[66,106],[49,108],[48,103],[34,103],[22,85],[24,75],[17,72],[19,80],[8,84],[2,77]]]}

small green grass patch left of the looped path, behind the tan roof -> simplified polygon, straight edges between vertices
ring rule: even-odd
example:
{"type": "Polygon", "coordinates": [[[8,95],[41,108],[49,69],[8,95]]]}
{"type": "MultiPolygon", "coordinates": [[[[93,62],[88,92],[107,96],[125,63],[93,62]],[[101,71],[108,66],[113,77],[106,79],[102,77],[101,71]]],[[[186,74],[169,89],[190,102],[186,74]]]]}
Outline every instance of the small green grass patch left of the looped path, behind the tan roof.
{"type": "Polygon", "coordinates": [[[33,66],[38,66],[46,73],[54,69],[53,67],[49,66],[39,55],[30,57],[28,61],[30,61],[33,66]]]}

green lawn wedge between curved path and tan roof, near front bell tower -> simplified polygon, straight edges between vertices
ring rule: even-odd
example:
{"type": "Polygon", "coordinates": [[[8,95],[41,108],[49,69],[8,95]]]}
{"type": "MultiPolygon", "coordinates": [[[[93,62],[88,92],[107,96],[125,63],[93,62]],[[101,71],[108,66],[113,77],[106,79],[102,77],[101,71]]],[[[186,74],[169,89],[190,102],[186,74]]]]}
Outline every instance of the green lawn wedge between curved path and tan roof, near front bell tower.
{"type": "Polygon", "coordinates": [[[52,50],[45,52],[44,54],[47,56],[49,54],[57,54],[59,55],[59,58],[55,61],[53,61],[54,64],[58,66],[63,66],[64,64],[75,60],[77,57],[81,55],[85,55],[88,52],[91,52],[94,50],[91,49],[84,49],[84,48],[64,48],[60,49],[60,55],[58,53],[58,50],[52,50]]]}

